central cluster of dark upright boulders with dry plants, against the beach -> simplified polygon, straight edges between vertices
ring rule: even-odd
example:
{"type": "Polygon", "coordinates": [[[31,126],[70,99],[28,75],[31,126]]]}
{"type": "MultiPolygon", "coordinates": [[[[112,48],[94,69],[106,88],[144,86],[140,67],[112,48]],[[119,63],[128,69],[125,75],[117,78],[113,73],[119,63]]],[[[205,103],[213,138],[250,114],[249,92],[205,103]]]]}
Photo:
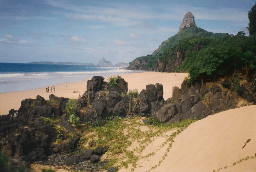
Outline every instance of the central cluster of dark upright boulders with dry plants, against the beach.
{"type": "Polygon", "coordinates": [[[147,85],[146,90],[141,91],[139,97],[127,95],[128,83],[120,76],[117,76],[117,85],[110,87],[102,82],[104,78],[94,76],[87,82],[87,86],[101,89],[88,89],[79,100],[81,107],[86,111],[77,110],[82,122],[102,121],[111,114],[114,116],[156,116],[157,110],[164,105],[163,85],[147,85]],[[93,82],[95,81],[95,82],[93,82]],[[89,83],[89,84],[88,84],[89,83]],[[90,84],[93,83],[93,84],[90,84]]]}

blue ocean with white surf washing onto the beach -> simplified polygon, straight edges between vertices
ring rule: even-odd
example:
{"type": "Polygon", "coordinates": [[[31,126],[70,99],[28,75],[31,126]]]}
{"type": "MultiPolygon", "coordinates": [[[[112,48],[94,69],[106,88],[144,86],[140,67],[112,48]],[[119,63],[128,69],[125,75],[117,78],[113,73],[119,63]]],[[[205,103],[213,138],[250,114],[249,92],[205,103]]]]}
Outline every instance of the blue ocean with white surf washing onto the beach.
{"type": "Polygon", "coordinates": [[[93,76],[122,75],[131,71],[116,67],[0,63],[0,93],[31,90],[93,76]]]}

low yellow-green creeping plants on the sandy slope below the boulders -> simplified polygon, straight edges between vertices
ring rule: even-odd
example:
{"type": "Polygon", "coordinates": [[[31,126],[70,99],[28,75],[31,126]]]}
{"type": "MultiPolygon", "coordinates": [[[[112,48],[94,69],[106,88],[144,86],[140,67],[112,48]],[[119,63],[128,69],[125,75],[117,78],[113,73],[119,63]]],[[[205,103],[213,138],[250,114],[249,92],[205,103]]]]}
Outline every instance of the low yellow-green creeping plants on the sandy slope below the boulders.
{"type": "MultiPolygon", "coordinates": [[[[109,158],[109,163],[107,167],[115,165],[118,168],[128,168],[128,166],[135,168],[139,159],[154,155],[154,152],[151,152],[141,156],[148,144],[157,139],[157,137],[165,137],[166,141],[161,147],[168,145],[166,153],[169,152],[173,138],[197,119],[187,119],[173,124],[160,124],[155,121],[154,125],[145,124],[142,120],[142,117],[122,119],[111,116],[104,126],[92,127],[90,124],[84,125],[88,129],[83,128],[80,149],[90,148],[93,150],[98,146],[108,147],[106,156],[109,158]],[[167,131],[172,130],[173,134],[165,134],[167,131]],[[132,141],[136,141],[136,147],[133,150],[129,150],[132,141]]],[[[163,154],[162,159],[167,156],[166,153],[163,154]]]]}

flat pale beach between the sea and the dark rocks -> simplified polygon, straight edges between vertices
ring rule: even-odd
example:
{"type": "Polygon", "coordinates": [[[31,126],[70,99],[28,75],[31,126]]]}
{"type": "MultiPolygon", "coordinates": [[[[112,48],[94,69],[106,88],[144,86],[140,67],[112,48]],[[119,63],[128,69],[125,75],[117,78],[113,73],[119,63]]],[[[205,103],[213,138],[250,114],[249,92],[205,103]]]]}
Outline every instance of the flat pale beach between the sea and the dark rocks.
{"type": "MultiPolygon", "coordinates": [[[[105,78],[105,81],[108,81],[108,78],[113,75],[108,75],[105,78]]],[[[146,89],[148,84],[163,84],[163,98],[167,100],[172,97],[172,88],[177,86],[180,87],[184,78],[188,76],[187,73],[160,73],[160,72],[138,72],[138,73],[127,73],[120,75],[126,82],[128,82],[128,89],[133,90],[137,89],[138,92],[142,89],[146,89]]],[[[50,91],[46,92],[46,87],[26,90],[26,91],[14,91],[8,93],[0,94],[0,115],[6,115],[9,113],[10,109],[18,110],[22,100],[26,98],[36,99],[37,95],[40,95],[49,100],[49,95],[54,94],[57,97],[66,97],[66,98],[79,98],[79,95],[83,95],[86,91],[87,81],[91,78],[83,79],[83,81],[70,82],[49,85],[50,91]],[[51,87],[55,87],[55,92],[51,92],[51,87]],[[76,93],[74,93],[74,91],[76,93]]]]}

